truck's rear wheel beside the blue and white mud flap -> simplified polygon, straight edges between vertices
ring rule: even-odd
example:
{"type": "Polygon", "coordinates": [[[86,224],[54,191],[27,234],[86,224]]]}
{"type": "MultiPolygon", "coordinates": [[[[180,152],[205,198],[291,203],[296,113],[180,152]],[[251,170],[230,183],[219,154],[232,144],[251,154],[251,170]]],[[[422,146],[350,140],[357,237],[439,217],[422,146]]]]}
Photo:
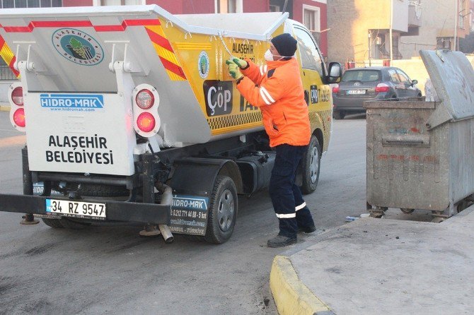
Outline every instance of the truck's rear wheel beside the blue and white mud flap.
{"type": "Polygon", "coordinates": [[[209,203],[206,242],[222,244],[232,235],[237,218],[237,189],[231,177],[219,175],[209,203]]]}

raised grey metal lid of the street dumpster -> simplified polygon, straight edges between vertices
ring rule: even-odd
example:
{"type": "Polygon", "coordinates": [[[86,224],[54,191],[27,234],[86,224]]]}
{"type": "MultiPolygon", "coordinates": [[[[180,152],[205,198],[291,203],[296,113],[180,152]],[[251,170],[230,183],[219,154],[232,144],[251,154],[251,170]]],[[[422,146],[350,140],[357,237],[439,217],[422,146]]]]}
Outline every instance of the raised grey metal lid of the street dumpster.
{"type": "Polygon", "coordinates": [[[450,120],[474,117],[474,70],[466,56],[448,50],[422,50],[420,55],[450,120]]]}

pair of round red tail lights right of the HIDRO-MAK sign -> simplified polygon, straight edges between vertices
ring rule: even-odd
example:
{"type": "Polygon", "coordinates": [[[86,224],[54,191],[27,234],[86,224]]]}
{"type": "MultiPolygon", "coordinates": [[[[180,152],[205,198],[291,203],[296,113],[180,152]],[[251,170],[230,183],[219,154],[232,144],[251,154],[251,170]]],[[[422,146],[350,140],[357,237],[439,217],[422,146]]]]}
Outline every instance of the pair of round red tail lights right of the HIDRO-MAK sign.
{"type": "Polygon", "coordinates": [[[149,84],[140,84],[133,90],[134,129],[142,137],[158,133],[161,120],[158,116],[160,98],[156,89],[149,84]]]}

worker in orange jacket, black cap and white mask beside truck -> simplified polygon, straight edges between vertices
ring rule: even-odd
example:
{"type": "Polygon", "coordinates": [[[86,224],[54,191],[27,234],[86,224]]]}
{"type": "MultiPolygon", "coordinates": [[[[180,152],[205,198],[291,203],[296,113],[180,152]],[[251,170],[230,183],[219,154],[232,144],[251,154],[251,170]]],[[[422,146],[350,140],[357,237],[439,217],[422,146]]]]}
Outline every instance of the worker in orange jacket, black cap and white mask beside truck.
{"type": "Polygon", "coordinates": [[[295,184],[296,169],[311,138],[308,107],[304,100],[299,64],[294,57],[296,40],[288,33],[274,37],[265,52],[266,65],[250,59],[226,61],[237,89],[262,112],[262,122],[277,153],[270,177],[270,198],[279,220],[279,233],[269,247],[297,242],[297,232],[311,233],[316,227],[311,212],[295,184]]]}

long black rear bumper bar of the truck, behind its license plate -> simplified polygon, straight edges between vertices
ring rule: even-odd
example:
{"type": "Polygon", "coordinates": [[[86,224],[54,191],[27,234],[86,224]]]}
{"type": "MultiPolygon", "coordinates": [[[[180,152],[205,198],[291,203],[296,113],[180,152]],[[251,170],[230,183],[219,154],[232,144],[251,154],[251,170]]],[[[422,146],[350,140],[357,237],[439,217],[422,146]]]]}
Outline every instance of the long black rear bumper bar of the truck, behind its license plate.
{"type": "MultiPolygon", "coordinates": [[[[50,215],[46,211],[46,199],[51,197],[0,194],[0,211],[50,215]]],[[[97,203],[81,199],[83,202],[97,203]]],[[[170,205],[133,203],[124,201],[100,201],[107,208],[106,221],[153,223],[170,225],[170,205]]],[[[103,220],[98,220],[103,222],[103,220]]]]}

